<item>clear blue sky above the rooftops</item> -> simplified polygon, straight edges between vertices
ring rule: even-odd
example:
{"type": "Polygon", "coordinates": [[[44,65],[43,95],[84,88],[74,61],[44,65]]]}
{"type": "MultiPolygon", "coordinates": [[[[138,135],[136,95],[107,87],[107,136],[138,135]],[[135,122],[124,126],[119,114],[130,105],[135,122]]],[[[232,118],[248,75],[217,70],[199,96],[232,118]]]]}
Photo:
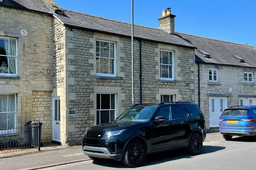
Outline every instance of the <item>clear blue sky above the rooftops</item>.
{"type": "MultiPolygon", "coordinates": [[[[55,0],[63,8],[131,22],[131,0],[55,0]]],[[[172,8],[175,31],[256,46],[255,0],[134,0],[134,23],[158,27],[172,8]]]]}

